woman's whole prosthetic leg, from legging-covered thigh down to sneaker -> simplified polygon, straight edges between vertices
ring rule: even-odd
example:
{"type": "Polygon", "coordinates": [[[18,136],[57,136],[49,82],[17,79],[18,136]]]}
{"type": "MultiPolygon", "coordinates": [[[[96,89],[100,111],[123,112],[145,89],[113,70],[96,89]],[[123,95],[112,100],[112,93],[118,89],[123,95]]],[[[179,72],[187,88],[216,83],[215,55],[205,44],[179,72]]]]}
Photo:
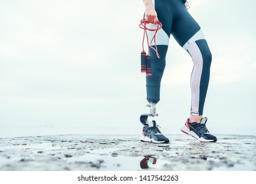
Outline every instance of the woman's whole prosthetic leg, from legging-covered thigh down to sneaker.
{"type": "MultiPolygon", "coordinates": [[[[168,143],[169,139],[165,137],[157,127],[155,121],[155,106],[160,100],[160,87],[163,72],[165,70],[165,57],[168,50],[168,42],[170,37],[170,30],[172,25],[171,13],[168,11],[167,5],[170,4],[168,0],[154,1],[155,11],[157,11],[157,17],[163,24],[163,28],[157,32],[156,43],[153,43],[153,47],[157,45],[157,51],[160,58],[157,57],[153,49],[149,49],[151,56],[151,74],[152,76],[146,77],[146,89],[147,89],[147,101],[149,102],[150,114],[141,114],[140,121],[144,125],[142,129],[141,141],[153,142],[153,143],[168,143]],[[155,45],[154,45],[155,44],[155,45]],[[148,116],[153,117],[152,121],[148,121],[148,116]]],[[[154,26],[153,24],[148,26],[154,26]]],[[[149,41],[151,41],[154,32],[147,32],[149,35],[149,41]]]]}

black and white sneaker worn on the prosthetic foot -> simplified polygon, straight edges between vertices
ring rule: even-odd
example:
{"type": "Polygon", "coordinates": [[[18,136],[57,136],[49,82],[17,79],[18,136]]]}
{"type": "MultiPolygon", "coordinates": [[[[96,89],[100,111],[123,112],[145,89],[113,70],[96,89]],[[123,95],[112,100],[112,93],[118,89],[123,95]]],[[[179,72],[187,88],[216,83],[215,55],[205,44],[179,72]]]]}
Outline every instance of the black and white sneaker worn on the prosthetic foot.
{"type": "Polygon", "coordinates": [[[149,122],[148,126],[143,127],[140,141],[150,143],[169,143],[169,139],[160,132],[155,121],[149,122]]]}

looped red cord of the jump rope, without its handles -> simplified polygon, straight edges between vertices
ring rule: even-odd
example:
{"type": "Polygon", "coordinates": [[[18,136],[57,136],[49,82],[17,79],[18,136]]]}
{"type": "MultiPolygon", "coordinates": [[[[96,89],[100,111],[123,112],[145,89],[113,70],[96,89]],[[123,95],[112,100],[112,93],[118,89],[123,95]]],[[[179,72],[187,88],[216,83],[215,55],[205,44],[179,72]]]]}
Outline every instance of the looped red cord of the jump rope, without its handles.
{"type": "MultiPolygon", "coordinates": [[[[143,32],[143,40],[142,40],[142,49],[143,49],[143,51],[145,51],[144,50],[144,41],[145,41],[145,37],[146,37],[147,38],[148,52],[149,52],[149,47],[151,47],[152,49],[155,50],[155,53],[157,53],[157,57],[158,58],[160,58],[160,55],[159,55],[159,53],[157,51],[157,44],[155,43],[155,36],[157,35],[157,31],[160,30],[162,27],[163,27],[163,25],[159,21],[156,21],[156,22],[149,21],[149,20],[145,20],[145,18],[140,21],[140,28],[144,30],[144,32],[143,32]],[[153,29],[147,28],[147,24],[157,24],[157,28],[153,28],[153,29]],[[153,37],[152,37],[152,39],[150,41],[150,44],[149,44],[149,38],[147,36],[147,31],[155,32],[155,34],[153,35],[153,37]],[[155,43],[155,48],[152,47],[152,42],[153,41],[155,43]]],[[[147,55],[149,55],[149,53],[147,55]]]]}

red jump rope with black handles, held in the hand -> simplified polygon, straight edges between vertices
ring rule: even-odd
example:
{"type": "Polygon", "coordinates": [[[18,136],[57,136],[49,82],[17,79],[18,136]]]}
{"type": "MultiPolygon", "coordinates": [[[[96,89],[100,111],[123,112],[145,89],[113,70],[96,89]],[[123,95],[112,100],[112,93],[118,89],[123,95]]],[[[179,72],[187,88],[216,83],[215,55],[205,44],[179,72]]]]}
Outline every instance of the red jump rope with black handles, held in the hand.
{"type": "Polygon", "coordinates": [[[161,22],[153,22],[149,20],[142,19],[140,21],[140,28],[143,29],[143,40],[142,40],[142,51],[141,51],[141,72],[146,72],[146,76],[152,76],[151,74],[151,57],[149,55],[149,47],[155,50],[155,53],[157,54],[157,57],[160,58],[160,55],[157,51],[157,44],[155,43],[155,36],[157,35],[157,31],[162,28],[161,22]],[[149,24],[155,24],[155,28],[148,28],[147,26],[149,24]],[[153,35],[150,43],[149,43],[149,37],[147,36],[147,31],[155,32],[153,35]],[[147,39],[147,53],[144,49],[144,41],[147,39]],[[152,42],[155,43],[155,48],[152,47],[152,42]]]}

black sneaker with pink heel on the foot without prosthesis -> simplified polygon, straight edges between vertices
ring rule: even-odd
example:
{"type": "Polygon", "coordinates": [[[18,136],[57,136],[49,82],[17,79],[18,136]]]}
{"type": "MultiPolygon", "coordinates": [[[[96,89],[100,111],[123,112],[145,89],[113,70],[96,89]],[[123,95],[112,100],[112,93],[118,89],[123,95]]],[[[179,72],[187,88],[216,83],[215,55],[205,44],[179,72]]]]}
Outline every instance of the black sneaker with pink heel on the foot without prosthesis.
{"type": "Polygon", "coordinates": [[[196,122],[191,123],[190,119],[188,119],[185,122],[185,126],[181,128],[181,131],[195,137],[195,139],[202,143],[216,142],[217,137],[209,133],[207,127],[205,126],[206,122],[206,117],[202,118],[199,124],[196,122]]]}

